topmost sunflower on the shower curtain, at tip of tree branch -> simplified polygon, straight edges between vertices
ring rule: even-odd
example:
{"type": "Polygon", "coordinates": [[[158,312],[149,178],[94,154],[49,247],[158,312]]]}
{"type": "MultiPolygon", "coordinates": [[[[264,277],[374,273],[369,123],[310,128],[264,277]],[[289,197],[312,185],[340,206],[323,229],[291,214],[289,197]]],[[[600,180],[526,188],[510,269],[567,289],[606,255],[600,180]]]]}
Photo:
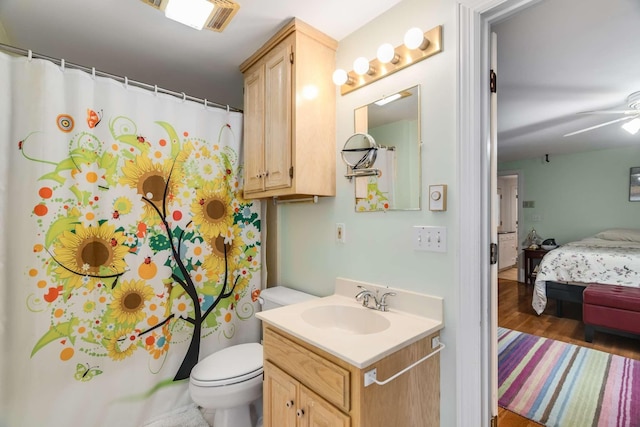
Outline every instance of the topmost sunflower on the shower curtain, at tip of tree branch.
{"type": "MultiPolygon", "coordinates": [[[[175,167],[172,171],[172,165],[173,161],[171,159],[159,164],[152,162],[149,157],[136,156],[135,161],[127,162],[122,168],[120,184],[135,188],[140,196],[147,198],[162,212],[162,202],[167,182],[169,182],[167,198],[171,198],[174,196],[181,179],[180,168],[175,167]],[[171,176],[170,181],[169,176],[171,176]]],[[[160,217],[156,210],[148,203],[144,205],[144,212],[147,225],[160,223],[160,217]]]]}

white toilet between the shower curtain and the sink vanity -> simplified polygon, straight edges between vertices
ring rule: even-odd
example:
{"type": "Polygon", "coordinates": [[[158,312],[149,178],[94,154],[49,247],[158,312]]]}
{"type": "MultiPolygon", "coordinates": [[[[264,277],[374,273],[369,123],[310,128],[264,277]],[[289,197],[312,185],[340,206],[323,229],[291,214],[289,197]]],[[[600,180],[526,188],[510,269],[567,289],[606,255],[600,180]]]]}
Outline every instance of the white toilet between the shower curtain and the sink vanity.
{"type": "MultiPolygon", "coordinates": [[[[275,286],[260,293],[262,310],[317,298],[313,295],[275,286]]],[[[202,359],[191,370],[189,394],[202,408],[205,420],[214,427],[260,427],[252,422],[262,414],[262,345],[233,345],[202,359]]]]}

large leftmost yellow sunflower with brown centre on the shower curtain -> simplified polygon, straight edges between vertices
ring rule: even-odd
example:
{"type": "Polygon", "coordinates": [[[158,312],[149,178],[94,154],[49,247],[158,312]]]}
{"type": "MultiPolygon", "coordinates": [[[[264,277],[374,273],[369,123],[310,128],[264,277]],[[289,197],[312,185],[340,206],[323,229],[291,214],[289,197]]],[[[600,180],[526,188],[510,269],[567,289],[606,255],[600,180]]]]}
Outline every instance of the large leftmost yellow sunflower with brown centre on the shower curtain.
{"type": "Polygon", "coordinates": [[[124,257],[129,252],[124,242],[124,234],[116,232],[115,226],[107,222],[89,227],[77,224],[73,231],[63,231],[58,238],[54,248],[59,264],[56,273],[61,279],[69,280],[73,288],[92,289],[100,278],[89,276],[104,277],[124,272],[124,257]]]}

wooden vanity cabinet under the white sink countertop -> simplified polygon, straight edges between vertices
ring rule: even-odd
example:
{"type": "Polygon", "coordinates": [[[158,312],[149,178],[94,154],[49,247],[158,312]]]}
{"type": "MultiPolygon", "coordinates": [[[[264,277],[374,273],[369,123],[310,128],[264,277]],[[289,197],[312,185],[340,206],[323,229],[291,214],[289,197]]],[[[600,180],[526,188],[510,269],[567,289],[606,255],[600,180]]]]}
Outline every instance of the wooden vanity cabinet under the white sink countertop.
{"type": "Polygon", "coordinates": [[[364,386],[377,369],[385,380],[433,351],[434,333],[365,368],[266,324],[265,427],[387,427],[440,425],[440,355],[385,385],[364,386]]]}

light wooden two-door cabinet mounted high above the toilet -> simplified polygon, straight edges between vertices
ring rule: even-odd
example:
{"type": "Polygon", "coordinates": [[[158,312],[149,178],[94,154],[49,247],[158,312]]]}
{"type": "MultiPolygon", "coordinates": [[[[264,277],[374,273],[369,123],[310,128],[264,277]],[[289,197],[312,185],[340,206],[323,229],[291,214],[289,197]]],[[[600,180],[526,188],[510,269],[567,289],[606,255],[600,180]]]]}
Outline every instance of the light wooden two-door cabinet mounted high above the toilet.
{"type": "Polygon", "coordinates": [[[294,18],[240,65],[245,198],[335,196],[336,47],[294,18]]]}

